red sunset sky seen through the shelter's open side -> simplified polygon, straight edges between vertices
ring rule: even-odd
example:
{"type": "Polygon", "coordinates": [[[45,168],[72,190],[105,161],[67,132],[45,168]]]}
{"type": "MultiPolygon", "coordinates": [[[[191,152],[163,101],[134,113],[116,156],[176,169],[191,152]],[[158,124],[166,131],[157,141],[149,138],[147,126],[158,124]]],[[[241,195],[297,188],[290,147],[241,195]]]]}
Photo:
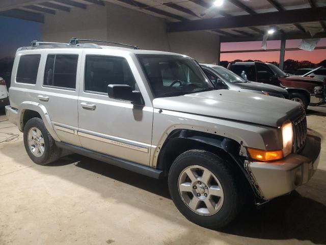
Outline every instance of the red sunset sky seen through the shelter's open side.
{"type": "MultiPolygon", "coordinates": [[[[287,40],[285,47],[297,47],[301,40],[287,40]]],[[[267,48],[280,48],[281,41],[267,41],[267,48]]],[[[317,46],[326,46],[326,38],[322,38],[317,46]]],[[[221,43],[221,51],[236,51],[236,50],[259,50],[261,41],[255,42],[226,42],[221,43]]],[[[234,60],[261,60],[263,62],[280,61],[280,52],[255,52],[255,53],[232,53],[221,54],[221,61],[234,60]]],[[[285,60],[308,60],[312,63],[319,63],[326,59],[326,50],[310,51],[285,51],[285,60]]]]}

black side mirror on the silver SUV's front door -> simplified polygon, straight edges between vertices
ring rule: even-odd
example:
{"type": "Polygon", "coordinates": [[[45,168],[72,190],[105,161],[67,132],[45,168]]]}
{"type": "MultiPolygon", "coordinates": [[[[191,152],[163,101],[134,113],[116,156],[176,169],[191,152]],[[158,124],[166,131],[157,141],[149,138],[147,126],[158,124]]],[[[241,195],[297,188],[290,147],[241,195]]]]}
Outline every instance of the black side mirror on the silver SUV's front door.
{"type": "Polygon", "coordinates": [[[137,106],[144,105],[141,92],[132,91],[127,84],[109,84],[107,85],[107,94],[111,99],[129,101],[137,106]]]}

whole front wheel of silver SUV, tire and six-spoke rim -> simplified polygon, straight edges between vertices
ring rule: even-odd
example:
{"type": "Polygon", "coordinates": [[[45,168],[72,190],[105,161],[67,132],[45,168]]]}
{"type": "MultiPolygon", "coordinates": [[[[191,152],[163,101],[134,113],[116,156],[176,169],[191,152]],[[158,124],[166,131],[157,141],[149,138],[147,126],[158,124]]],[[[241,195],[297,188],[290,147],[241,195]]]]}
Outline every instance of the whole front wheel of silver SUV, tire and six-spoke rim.
{"type": "Polygon", "coordinates": [[[207,228],[230,223],[242,207],[232,163],[202,150],[182,153],[169,172],[169,190],[178,210],[207,228]]]}

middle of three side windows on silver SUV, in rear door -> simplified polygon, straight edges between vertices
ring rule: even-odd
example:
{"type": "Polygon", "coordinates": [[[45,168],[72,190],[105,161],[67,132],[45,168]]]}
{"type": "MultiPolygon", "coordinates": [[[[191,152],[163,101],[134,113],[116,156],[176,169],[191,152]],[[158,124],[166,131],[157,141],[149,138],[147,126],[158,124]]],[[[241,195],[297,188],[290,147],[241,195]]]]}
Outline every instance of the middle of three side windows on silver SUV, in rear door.
{"type": "Polygon", "coordinates": [[[76,88],[78,55],[48,55],[43,85],[76,88]]]}

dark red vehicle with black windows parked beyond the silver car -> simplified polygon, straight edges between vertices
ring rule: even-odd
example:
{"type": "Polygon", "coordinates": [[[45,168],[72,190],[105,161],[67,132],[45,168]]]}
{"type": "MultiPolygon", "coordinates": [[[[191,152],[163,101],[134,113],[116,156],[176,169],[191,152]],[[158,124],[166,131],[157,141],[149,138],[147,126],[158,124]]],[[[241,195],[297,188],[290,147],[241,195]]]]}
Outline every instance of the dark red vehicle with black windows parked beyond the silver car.
{"type": "Polygon", "coordinates": [[[314,78],[289,76],[279,67],[263,62],[231,62],[228,69],[249,81],[267,83],[285,88],[289,99],[305,108],[324,104],[324,82],[314,78]]]}

